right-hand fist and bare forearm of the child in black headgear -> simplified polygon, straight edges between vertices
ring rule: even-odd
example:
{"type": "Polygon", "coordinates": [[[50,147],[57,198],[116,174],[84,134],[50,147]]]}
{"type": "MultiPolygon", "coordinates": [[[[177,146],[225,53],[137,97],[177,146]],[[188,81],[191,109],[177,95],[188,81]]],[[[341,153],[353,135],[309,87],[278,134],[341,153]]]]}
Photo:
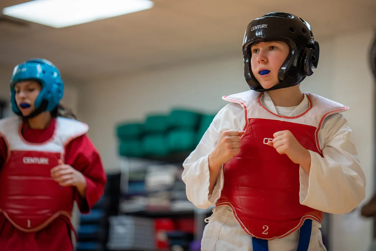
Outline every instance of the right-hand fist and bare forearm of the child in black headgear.
{"type": "Polygon", "coordinates": [[[286,130],[274,133],[273,137],[273,141],[269,141],[268,145],[273,146],[279,154],[286,154],[291,161],[300,164],[309,173],[311,155],[307,149],[300,145],[294,135],[286,130]]]}

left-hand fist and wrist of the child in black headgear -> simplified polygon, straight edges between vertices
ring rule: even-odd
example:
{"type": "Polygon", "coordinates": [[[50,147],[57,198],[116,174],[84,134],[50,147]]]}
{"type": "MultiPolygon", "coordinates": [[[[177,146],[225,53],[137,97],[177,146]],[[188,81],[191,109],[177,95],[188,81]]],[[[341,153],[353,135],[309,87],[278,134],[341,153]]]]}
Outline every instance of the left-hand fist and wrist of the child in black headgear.
{"type": "Polygon", "coordinates": [[[217,146],[209,154],[209,166],[220,168],[232,157],[240,153],[240,138],[244,131],[229,130],[222,132],[219,137],[217,146]]]}

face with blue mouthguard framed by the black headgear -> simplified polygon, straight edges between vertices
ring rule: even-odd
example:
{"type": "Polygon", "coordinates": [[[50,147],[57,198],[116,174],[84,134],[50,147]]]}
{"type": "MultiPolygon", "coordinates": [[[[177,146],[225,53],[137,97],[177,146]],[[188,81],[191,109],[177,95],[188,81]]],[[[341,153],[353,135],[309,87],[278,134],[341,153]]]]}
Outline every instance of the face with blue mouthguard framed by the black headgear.
{"type": "Polygon", "coordinates": [[[281,41],[260,42],[251,47],[252,73],[264,89],[279,83],[278,72],[285,62],[290,47],[281,41]]]}

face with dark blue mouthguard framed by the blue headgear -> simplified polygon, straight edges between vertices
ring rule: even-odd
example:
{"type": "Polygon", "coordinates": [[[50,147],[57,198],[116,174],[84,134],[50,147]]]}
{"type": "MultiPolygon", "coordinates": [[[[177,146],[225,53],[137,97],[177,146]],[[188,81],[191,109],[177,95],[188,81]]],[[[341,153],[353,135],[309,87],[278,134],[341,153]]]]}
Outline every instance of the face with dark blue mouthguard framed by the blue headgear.
{"type": "Polygon", "coordinates": [[[42,86],[35,81],[22,81],[14,85],[15,99],[23,116],[30,115],[35,110],[35,100],[42,86]]]}

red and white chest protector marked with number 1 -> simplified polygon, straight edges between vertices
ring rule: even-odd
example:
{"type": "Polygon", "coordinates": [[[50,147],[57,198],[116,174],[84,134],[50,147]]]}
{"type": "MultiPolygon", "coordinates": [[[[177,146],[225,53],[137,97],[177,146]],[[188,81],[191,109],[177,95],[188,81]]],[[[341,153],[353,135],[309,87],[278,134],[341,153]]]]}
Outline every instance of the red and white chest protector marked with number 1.
{"type": "Polygon", "coordinates": [[[0,132],[8,146],[8,159],[0,172],[0,212],[24,232],[46,227],[60,215],[71,218],[73,187],[61,187],[50,170],[64,161],[64,147],[87,132],[78,121],[58,118],[49,141],[35,144],[23,139],[18,118],[2,120],[0,132]]]}

